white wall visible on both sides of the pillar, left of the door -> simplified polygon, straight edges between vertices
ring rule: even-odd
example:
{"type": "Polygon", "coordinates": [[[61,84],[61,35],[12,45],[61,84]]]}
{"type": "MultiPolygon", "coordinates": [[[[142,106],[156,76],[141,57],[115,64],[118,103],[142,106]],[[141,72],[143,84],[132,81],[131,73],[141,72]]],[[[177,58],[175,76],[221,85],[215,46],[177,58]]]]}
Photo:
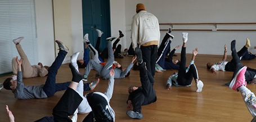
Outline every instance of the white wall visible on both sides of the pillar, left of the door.
{"type": "MultiPolygon", "coordinates": [[[[73,48],[71,52],[80,52],[78,58],[83,58],[83,22],[82,22],[82,1],[71,0],[71,41],[73,48]]],[[[53,33],[53,10],[52,0],[35,0],[35,11],[38,33],[38,57],[43,65],[51,65],[55,60],[55,42],[53,33]]],[[[64,64],[70,61],[67,56],[64,64]]]]}

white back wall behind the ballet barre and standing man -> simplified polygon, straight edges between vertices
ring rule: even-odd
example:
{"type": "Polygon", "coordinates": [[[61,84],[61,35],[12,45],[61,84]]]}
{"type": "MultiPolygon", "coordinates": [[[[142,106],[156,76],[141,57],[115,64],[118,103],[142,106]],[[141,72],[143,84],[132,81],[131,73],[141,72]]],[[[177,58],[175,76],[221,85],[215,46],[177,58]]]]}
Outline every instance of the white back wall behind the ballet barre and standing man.
{"type": "MultiPolygon", "coordinates": [[[[158,17],[159,23],[163,22],[256,22],[256,1],[232,1],[232,0],[126,0],[125,1],[125,20],[127,35],[131,34],[131,19],[136,14],[136,4],[145,4],[146,10],[158,17]]],[[[168,26],[160,26],[161,29],[167,29],[168,26]]],[[[213,26],[174,26],[179,28],[213,28],[213,26]]],[[[256,29],[256,25],[241,26],[218,26],[223,29],[256,29]]],[[[161,39],[165,35],[161,31],[161,39]]],[[[173,31],[174,39],[171,48],[182,44],[182,31],[173,31]]],[[[131,39],[127,36],[127,46],[131,39]]],[[[251,44],[256,45],[255,31],[188,31],[187,53],[191,53],[195,47],[199,48],[201,54],[223,55],[224,44],[228,44],[236,39],[237,49],[245,44],[245,38],[250,38],[251,44]]],[[[250,48],[251,49],[251,48],[250,48]]],[[[178,49],[177,52],[179,52],[178,49]]],[[[231,51],[228,50],[228,55],[231,51]]]]}

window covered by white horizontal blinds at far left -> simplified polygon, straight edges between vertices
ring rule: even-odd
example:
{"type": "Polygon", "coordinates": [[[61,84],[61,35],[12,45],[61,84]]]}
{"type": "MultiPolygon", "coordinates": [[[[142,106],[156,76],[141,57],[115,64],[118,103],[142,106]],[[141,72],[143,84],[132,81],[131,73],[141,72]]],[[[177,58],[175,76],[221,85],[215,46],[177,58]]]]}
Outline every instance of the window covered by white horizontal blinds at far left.
{"type": "Polygon", "coordinates": [[[19,56],[12,39],[24,37],[21,47],[30,64],[38,62],[34,0],[0,1],[0,75],[12,72],[11,60],[19,56]]]}

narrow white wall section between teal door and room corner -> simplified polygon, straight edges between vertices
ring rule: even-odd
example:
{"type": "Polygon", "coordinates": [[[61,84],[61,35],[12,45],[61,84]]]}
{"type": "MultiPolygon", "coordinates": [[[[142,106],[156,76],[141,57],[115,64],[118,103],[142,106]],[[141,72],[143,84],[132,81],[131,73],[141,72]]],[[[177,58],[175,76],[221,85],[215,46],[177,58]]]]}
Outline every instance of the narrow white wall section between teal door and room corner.
{"type": "Polygon", "coordinates": [[[111,35],[118,37],[118,30],[121,30],[124,37],[120,40],[119,44],[122,45],[122,50],[127,47],[127,37],[125,26],[125,2],[124,0],[110,0],[110,17],[111,17],[111,35]]]}

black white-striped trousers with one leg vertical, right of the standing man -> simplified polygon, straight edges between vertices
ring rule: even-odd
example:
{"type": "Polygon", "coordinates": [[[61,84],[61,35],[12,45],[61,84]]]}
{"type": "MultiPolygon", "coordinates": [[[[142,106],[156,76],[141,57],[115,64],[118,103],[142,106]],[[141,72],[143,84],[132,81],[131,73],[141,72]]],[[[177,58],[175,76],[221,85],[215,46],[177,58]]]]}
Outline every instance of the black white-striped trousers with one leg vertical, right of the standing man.
{"type": "Polygon", "coordinates": [[[193,78],[198,79],[198,74],[195,64],[190,65],[189,70],[186,73],[186,47],[181,49],[181,64],[178,70],[178,85],[190,85],[193,78]]]}

